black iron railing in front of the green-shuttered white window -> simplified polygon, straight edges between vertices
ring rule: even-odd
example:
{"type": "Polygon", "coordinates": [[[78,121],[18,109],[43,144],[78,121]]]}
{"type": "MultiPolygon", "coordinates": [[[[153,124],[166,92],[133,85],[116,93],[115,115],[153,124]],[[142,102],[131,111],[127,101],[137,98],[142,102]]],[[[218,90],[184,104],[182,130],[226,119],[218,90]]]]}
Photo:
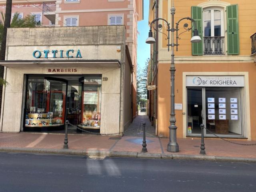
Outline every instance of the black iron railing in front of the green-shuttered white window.
{"type": "Polygon", "coordinates": [[[224,55],[224,37],[204,37],[204,55],[224,55]]]}

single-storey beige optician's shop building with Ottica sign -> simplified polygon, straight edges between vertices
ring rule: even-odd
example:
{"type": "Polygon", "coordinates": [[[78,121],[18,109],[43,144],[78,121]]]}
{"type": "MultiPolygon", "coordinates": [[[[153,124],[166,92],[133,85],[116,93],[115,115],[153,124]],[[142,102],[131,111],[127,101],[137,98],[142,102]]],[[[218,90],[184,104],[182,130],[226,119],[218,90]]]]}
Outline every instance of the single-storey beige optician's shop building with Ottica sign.
{"type": "Polygon", "coordinates": [[[125,33],[125,26],[9,28],[0,131],[51,131],[69,120],[122,133],[132,121],[125,33]]]}

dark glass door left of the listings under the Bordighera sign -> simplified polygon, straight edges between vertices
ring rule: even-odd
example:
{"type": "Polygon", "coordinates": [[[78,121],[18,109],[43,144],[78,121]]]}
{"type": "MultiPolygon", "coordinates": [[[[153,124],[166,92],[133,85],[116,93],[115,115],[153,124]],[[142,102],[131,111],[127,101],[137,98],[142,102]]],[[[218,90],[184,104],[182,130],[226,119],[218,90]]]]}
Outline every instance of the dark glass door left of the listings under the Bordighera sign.
{"type": "Polygon", "coordinates": [[[187,88],[187,134],[200,134],[203,123],[202,88],[187,88]]]}

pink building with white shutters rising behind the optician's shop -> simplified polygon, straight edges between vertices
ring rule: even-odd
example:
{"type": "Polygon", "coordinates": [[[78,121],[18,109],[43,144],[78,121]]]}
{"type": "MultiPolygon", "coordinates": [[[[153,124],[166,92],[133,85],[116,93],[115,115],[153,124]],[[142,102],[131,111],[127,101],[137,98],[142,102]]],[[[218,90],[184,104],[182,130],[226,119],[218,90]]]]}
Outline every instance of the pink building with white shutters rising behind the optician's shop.
{"type": "MultiPolygon", "coordinates": [[[[0,0],[0,11],[3,13],[6,8],[5,3],[6,0],[0,0]]],[[[132,108],[135,117],[138,113],[136,107],[137,22],[143,18],[142,6],[143,0],[13,0],[12,15],[18,12],[20,17],[24,18],[28,14],[33,14],[38,27],[126,26],[126,45],[134,66],[132,108]]]]}

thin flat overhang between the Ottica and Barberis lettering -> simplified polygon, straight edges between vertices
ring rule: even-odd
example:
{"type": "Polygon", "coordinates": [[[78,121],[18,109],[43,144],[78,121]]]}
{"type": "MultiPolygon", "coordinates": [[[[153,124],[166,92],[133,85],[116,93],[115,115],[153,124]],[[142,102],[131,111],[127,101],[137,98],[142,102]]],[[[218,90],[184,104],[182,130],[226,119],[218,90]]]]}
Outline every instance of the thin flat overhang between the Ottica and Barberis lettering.
{"type": "Polygon", "coordinates": [[[120,67],[119,60],[9,60],[0,61],[6,67],[120,67]]]}

